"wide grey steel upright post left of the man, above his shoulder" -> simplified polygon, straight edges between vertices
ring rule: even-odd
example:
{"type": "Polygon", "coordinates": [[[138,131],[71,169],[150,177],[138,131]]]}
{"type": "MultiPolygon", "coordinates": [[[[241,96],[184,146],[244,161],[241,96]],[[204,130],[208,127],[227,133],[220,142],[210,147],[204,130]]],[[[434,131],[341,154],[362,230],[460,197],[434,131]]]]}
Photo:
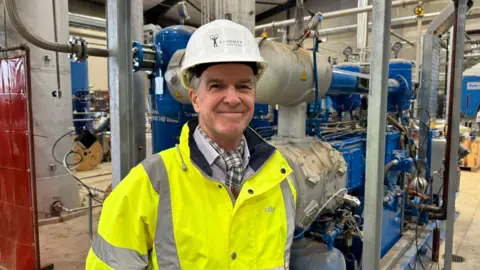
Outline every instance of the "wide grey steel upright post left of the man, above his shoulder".
{"type": "Polygon", "coordinates": [[[107,1],[112,184],[145,159],[145,96],[142,74],[132,73],[132,40],[143,36],[142,0],[107,1]],[[143,125],[143,126],[142,126],[143,125]]]}

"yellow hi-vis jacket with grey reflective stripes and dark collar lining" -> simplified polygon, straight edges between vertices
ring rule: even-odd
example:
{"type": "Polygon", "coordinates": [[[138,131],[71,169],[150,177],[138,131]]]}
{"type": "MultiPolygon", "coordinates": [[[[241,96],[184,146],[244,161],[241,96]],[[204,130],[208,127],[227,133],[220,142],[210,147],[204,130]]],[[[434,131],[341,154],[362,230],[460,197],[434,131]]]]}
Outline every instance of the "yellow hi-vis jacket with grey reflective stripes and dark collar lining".
{"type": "Polygon", "coordinates": [[[288,269],[296,190],[287,161],[248,128],[255,173],[233,205],[193,139],[197,124],[106,199],[86,269],[288,269]]]}

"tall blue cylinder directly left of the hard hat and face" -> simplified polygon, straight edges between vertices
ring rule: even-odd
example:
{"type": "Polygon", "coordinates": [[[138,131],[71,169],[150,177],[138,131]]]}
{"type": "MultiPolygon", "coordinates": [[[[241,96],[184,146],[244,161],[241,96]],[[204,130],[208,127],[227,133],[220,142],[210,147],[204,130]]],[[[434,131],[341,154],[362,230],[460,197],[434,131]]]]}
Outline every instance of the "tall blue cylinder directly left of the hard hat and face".
{"type": "Polygon", "coordinates": [[[153,152],[175,146],[183,124],[195,116],[192,105],[181,104],[172,97],[164,80],[168,63],[177,50],[185,49],[195,28],[176,25],[163,28],[155,36],[155,46],[161,51],[161,63],[150,76],[152,98],[153,152]]]}

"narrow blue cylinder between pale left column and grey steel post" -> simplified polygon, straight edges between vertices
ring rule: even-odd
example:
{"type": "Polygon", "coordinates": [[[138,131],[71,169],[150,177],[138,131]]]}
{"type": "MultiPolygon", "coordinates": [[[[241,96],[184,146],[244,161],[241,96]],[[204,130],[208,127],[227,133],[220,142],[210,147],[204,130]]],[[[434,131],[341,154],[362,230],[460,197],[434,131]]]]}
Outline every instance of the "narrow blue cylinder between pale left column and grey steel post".
{"type": "Polygon", "coordinates": [[[88,61],[70,62],[72,81],[72,113],[75,133],[90,130],[92,117],[90,113],[91,96],[88,87],[88,61]]]}

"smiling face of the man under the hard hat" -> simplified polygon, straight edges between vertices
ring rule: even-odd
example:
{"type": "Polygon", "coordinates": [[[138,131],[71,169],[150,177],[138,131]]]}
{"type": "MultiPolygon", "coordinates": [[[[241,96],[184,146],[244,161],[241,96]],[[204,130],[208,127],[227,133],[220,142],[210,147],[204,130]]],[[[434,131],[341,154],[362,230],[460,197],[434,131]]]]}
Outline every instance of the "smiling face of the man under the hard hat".
{"type": "Polygon", "coordinates": [[[202,73],[198,89],[190,89],[189,95],[207,135],[237,139],[253,117],[253,71],[244,64],[210,66],[202,73]]]}

